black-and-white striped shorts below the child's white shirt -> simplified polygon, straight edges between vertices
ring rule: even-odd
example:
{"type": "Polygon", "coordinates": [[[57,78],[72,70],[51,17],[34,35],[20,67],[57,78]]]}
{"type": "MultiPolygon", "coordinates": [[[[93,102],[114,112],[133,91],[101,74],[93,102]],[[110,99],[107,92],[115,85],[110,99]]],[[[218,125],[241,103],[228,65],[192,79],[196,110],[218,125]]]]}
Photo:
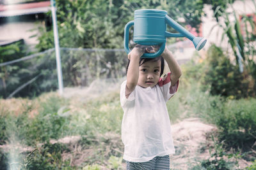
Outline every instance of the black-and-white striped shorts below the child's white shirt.
{"type": "Polygon", "coordinates": [[[163,157],[154,157],[147,162],[126,162],[127,170],[170,170],[169,155],[163,157]]]}

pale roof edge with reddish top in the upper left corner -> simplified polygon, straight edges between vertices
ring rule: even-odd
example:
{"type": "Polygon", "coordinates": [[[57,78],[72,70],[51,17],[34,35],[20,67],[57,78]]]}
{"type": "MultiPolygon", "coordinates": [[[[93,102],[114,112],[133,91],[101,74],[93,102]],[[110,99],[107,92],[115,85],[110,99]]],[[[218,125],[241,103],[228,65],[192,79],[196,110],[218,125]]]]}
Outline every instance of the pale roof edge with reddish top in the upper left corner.
{"type": "Polygon", "coordinates": [[[46,13],[51,10],[51,2],[0,5],[0,17],[12,17],[35,13],[46,13]]]}

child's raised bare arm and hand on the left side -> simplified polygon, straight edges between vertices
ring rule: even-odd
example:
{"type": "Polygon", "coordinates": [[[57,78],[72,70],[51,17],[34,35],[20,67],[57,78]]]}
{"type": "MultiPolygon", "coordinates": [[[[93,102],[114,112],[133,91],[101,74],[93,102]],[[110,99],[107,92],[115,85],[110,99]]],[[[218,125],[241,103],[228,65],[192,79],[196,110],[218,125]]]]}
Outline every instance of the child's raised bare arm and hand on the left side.
{"type": "Polygon", "coordinates": [[[129,67],[127,69],[127,81],[125,87],[125,97],[128,98],[131,92],[135,89],[139,78],[139,62],[140,57],[143,55],[144,50],[138,47],[134,47],[128,54],[130,60],[129,67]]]}

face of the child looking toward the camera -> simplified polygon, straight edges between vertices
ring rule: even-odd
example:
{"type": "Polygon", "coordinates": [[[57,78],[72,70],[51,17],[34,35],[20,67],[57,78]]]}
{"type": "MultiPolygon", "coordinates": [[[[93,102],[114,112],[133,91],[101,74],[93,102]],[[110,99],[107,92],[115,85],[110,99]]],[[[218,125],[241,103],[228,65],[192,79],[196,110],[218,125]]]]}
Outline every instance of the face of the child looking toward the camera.
{"type": "Polygon", "coordinates": [[[154,87],[160,78],[161,60],[148,61],[139,67],[138,85],[141,87],[154,87]]]}

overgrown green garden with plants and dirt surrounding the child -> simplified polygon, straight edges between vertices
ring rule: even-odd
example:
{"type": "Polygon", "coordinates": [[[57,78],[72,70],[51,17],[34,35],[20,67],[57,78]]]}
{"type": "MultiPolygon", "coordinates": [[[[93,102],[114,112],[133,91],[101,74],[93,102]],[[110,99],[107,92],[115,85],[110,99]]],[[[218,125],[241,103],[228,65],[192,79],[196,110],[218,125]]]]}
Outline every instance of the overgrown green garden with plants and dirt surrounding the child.
{"type": "MultiPolygon", "coordinates": [[[[176,150],[170,167],[256,169],[256,21],[248,15],[238,18],[233,3],[56,1],[63,96],[52,29],[42,29],[36,57],[0,66],[0,169],[125,169],[124,25],[134,10],[157,8],[199,29],[204,5],[211,6],[227,46],[210,43],[180,62],[179,90],[167,102],[176,150]],[[34,78],[29,85],[12,93],[29,78],[34,78]]],[[[175,41],[169,38],[167,44],[175,41]]],[[[0,46],[0,53],[0,64],[33,55],[20,43],[0,46]]]]}

